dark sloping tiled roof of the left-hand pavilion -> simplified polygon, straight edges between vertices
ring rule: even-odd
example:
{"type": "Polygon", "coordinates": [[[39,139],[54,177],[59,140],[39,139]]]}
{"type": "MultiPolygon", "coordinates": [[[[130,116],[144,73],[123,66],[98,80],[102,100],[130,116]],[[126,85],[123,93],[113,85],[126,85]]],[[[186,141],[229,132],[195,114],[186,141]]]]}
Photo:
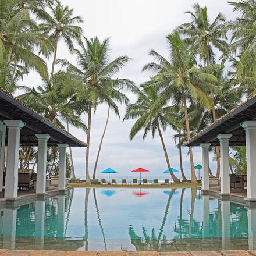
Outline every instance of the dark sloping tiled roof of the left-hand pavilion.
{"type": "MultiPolygon", "coordinates": [[[[48,140],[49,146],[67,143],[71,147],[86,147],[86,143],[56,126],[51,120],[40,115],[23,101],[0,88],[0,121],[4,120],[21,120],[25,123],[20,131],[20,143],[22,145],[37,146],[38,140],[35,134],[44,133],[51,136],[48,140]]],[[[8,134],[8,129],[6,133],[8,134]]]]}

